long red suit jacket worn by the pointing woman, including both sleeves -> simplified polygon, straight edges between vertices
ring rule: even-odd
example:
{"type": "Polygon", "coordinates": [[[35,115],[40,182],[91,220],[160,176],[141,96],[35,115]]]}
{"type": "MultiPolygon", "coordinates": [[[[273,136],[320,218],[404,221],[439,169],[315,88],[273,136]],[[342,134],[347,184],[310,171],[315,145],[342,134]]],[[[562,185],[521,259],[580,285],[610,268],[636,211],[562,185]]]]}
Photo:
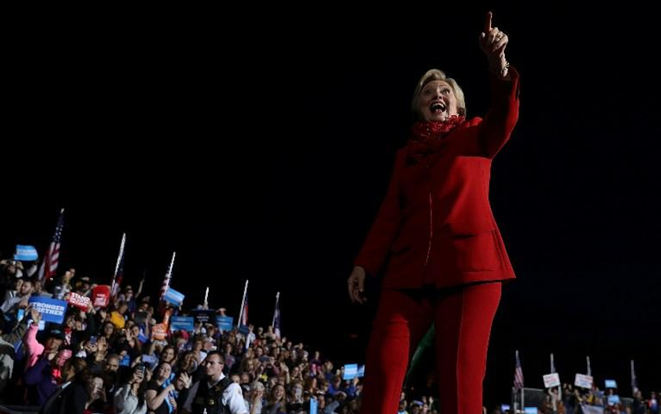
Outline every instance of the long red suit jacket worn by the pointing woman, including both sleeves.
{"type": "Polygon", "coordinates": [[[484,119],[466,120],[441,149],[418,163],[397,151],[388,193],[354,264],[383,288],[439,288],[514,279],[489,205],[494,156],[510,138],[519,113],[519,75],[491,79],[484,119]]]}

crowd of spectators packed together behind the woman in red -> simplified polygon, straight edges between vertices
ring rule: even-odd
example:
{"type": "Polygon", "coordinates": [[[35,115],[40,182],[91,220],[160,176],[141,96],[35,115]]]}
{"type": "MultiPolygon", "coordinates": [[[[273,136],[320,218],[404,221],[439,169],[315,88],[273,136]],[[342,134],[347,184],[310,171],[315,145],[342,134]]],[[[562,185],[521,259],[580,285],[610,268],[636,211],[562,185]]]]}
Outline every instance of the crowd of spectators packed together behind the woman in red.
{"type": "MultiPolygon", "coordinates": [[[[210,319],[159,337],[154,328],[171,313],[195,311],[152,300],[142,283],[135,292],[123,286],[107,307],[68,306],[63,323],[43,323],[31,297],[90,297],[96,285],[75,269],[42,282],[35,269],[0,262],[1,404],[77,414],[310,414],[314,406],[320,414],[360,413],[362,378],[345,380],[344,367],[271,326],[221,330],[210,319]]],[[[225,316],[225,309],[215,314],[225,316]]],[[[543,413],[554,412],[553,398],[558,414],[588,414],[581,403],[616,412],[598,390],[581,394],[566,386],[561,399],[555,395],[543,413]]],[[[658,414],[657,395],[637,395],[631,414],[658,414]]],[[[398,413],[439,413],[433,376],[402,391],[398,413]]]]}

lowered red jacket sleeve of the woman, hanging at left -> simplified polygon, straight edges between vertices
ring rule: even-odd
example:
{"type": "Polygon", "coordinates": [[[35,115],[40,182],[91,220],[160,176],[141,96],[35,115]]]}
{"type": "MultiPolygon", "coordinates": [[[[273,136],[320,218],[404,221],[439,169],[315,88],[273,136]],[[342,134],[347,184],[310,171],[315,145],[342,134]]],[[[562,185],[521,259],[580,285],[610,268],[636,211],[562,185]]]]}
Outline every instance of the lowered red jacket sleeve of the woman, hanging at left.
{"type": "Polygon", "coordinates": [[[400,174],[404,168],[405,150],[397,151],[395,168],[390,178],[386,198],[381,203],[377,218],[372,223],[370,232],[363,243],[354,265],[365,268],[365,272],[376,276],[386,261],[390,246],[393,244],[397,231],[400,228],[400,174]]]}

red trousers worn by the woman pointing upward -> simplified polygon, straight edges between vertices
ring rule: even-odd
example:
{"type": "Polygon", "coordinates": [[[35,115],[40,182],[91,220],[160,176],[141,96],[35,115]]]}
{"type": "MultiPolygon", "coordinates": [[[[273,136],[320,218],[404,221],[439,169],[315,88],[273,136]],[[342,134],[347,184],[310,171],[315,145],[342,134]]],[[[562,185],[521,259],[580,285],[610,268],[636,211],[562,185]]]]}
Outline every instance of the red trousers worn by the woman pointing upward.
{"type": "Polygon", "coordinates": [[[501,283],[445,290],[384,290],[365,361],[363,414],[393,414],[409,359],[435,325],[443,414],[481,414],[482,383],[501,283]]]}

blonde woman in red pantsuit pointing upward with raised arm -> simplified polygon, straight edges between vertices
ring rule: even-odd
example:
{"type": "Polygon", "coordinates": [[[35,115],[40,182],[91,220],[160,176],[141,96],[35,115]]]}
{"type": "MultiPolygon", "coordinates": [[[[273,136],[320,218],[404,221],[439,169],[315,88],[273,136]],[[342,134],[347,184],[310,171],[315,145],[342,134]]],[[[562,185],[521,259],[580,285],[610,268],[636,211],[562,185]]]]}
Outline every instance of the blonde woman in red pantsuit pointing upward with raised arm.
{"type": "Polygon", "coordinates": [[[505,59],[508,36],[487,15],[480,47],[491,73],[492,105],[466,119],[455,80],[432,70],[413,94],[418,117],[377,218],[349,276],[363,303],[365,274],[385,268],[365,362],[363,414],[392,414],[409,357],[433,323],[443,414],[480,414],[489,333],[501,283],[513,279],[489,206],[494,156],[512,133],[519,75],[505,59]]]}

